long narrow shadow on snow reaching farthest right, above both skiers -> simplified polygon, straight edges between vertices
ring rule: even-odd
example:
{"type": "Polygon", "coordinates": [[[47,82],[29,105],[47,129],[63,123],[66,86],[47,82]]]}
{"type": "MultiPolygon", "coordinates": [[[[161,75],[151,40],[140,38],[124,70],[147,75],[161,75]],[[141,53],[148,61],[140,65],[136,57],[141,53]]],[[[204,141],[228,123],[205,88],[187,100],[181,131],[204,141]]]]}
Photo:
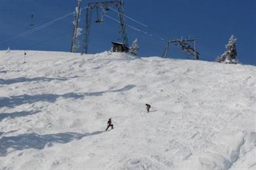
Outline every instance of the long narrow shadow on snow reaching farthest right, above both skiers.
{"type": "Polygon", "coordinates": [[[100,91],[100,92],[86,92],[80,94],[68,93],[63,95],[55,95],[55,94],[41,94],[41,95],[19,95],[19,96],[11,96],[11,97],[0,97],[0,108],[1,107],[15,107],[17,105],[22,104],[31,104],[37,101],[47,101],[49,103],[54,103],[58,97],[64,97],[64,99],[73,98],[79,99],[85,96],[101,96],[106,92],[121,92],[131,90],[134,85],[127,85],[118,90],[108,90],[108,91],[100,91]]]}

